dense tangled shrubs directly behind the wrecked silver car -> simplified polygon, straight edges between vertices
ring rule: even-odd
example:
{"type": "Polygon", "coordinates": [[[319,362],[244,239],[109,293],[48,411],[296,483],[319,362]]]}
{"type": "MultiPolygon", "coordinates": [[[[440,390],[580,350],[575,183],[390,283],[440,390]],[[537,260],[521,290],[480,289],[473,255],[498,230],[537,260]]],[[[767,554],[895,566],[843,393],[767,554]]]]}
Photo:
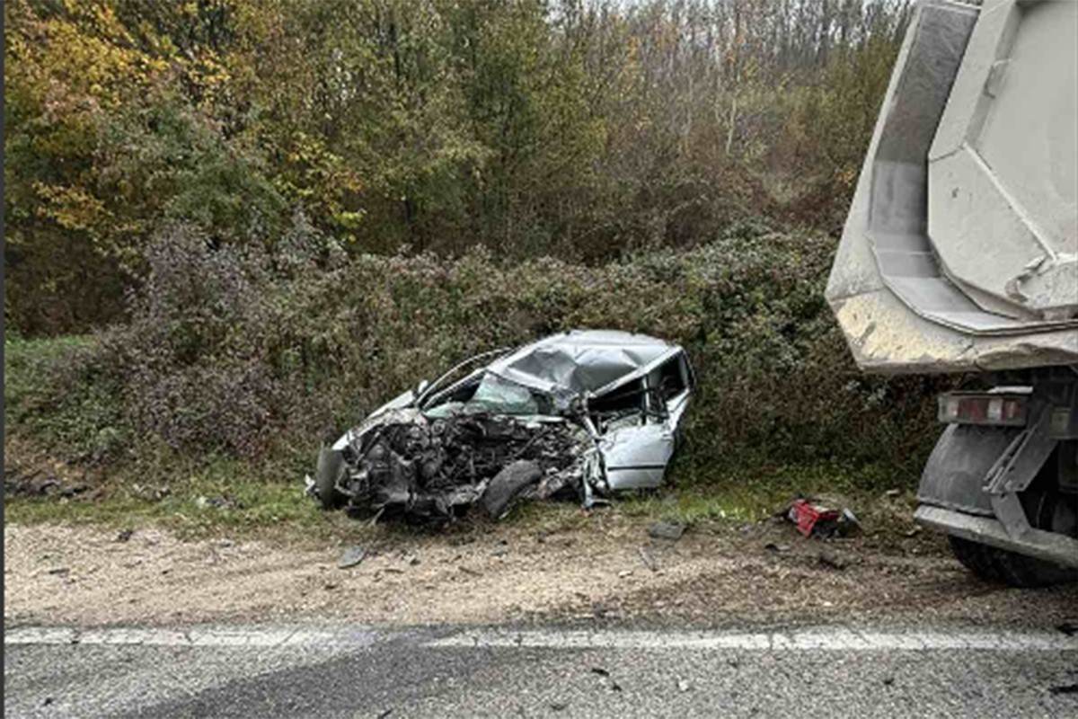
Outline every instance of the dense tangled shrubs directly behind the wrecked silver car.
{"type": "MultiPolygon", "coordinates": [[[[298,217],[272,249],[160,235],[129,323],[70,365],[115,387],[124,437],[255,464],[332,437],[459,359],[572,328],[682,344],[699,388],[685,476],[736,464],[912,470],[935,433],[930,381],[857,372],[823,300],[833,241],[743,225],[687,252],[590,267],[482,249],[344,258],[298,217]]],[[[86,391],[84,388],[83,391],[86,391]]],[[[85,441],[100,428],[87,428],[85,441]]],[[[114,431],[114,430],[113,430],[114,431]]]]}

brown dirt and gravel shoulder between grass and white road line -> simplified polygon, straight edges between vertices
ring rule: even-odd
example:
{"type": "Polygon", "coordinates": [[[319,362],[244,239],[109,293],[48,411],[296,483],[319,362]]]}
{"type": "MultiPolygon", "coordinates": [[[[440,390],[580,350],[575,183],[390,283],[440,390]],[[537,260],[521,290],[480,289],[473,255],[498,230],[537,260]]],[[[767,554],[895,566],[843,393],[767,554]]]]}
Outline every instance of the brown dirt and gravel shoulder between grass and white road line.
{"type": "Polygon", "coordinates": [[[591,520],[539,531],[383,533],[350,568],[338,566],[347,548],[309,542],[6,526],[4,623],[1078,620],[1078,586],[982,582],[930,533],[821,541],[770,520],[697,527],[672,541],[649,537],[647,520],[591,520]]]}

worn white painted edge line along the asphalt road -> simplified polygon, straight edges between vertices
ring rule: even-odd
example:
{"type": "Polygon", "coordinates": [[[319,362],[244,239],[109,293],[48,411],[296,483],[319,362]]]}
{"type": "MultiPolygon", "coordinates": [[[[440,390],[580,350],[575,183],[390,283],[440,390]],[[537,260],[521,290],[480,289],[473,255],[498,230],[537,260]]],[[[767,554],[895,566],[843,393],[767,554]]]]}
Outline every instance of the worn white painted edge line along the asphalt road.
{"type": "MultiPolygon", "coordinates": [[[[424,639],[430,648],[538,649],[740,649],[752,651],[1078,651],[1078,636],[1053,631],[888,630],[855,626],[806,627],[772,632],[641,632],[506,628],[462,630],[424,639]]],[[[4,645],[144,645],[164,647],[336,647],[372,646],[400,638],[400,631],[369,627],[197,626],[191,628],[19,626],[4,630],[4,645]]]]}

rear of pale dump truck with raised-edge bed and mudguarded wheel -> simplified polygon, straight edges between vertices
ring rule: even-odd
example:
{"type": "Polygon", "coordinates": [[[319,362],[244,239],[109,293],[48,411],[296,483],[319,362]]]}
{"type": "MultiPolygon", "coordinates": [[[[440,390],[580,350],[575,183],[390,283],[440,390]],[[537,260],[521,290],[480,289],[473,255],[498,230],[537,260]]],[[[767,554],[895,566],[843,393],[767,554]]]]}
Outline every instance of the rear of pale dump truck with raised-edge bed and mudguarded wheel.
{"type": "Polygon", "coordinates": [[[962,373],[915,520],[992,580],[1078,579],[1078,2],[923,0],[827,299],[865,372],[962,373]]]}

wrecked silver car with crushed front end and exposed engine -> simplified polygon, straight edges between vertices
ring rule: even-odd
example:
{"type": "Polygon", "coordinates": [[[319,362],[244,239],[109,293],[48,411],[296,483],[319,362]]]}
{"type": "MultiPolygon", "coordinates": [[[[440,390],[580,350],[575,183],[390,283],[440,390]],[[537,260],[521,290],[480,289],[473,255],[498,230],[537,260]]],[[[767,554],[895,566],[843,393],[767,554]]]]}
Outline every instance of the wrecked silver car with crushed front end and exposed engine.
{"type": "Polygon", "coordinates": [[[480,504],[658,487],[692,392],[681,347],[588,330],[473,357],[371,413],[319,455],[327,509],[448,521],[480,504]]]}

